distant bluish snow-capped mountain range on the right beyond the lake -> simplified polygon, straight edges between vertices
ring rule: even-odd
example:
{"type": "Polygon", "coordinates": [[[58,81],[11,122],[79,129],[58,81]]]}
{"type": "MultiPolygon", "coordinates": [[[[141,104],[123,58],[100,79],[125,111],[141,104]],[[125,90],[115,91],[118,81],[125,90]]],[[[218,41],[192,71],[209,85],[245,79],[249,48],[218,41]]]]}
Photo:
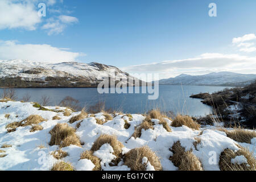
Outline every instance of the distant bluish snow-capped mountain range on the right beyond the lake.
{"type": "Polygon", "coordinates": [[[159,80],[160,85],[218,85],[218,86],[245,86],[256,79],[253,74],[232,72],[209,73],[207,75],[179,75],[175,78],[159,80]]]}

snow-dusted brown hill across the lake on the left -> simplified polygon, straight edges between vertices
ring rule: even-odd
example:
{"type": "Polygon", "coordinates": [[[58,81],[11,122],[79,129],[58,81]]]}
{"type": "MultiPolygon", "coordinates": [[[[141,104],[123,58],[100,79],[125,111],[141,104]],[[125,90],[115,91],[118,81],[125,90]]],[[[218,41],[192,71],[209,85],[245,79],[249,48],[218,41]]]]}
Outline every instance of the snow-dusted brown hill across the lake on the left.
{"type": "Polygon", "coordinates": [[[117,67],[100,63],[47,64],[28,60],[0,60],[0,86],[95,87],[107,77],[138,81],[117,67]]]}

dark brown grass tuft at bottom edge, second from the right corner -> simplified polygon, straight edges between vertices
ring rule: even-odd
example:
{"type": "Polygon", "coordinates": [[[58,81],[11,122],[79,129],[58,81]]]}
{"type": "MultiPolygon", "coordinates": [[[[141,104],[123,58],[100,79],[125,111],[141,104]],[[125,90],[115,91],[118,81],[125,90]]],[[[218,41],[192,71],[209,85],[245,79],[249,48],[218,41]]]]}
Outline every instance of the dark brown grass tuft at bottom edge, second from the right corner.
{"type": "Polygon", "coordinates": [[[185,151],[180,142],[174,143],[171,149],[172,156],[170,160],[174,166],[179,168],[179,171],[203,171],[200,160],[192,153],[192,151],[185,151]]]}

